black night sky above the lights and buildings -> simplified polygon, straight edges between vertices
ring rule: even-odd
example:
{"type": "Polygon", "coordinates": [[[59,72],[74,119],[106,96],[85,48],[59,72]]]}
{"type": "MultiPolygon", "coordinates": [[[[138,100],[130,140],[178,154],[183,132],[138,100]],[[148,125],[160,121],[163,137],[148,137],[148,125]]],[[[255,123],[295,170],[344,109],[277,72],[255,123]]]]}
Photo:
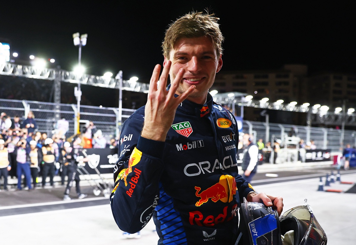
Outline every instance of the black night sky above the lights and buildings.
{"type": "Polygon", "coordinates": [[[225,37],[222,71],[278,69],[287,63],[307,64],[310,72],[356,71],[356,11],[342,1],[146,2],[2,2],[0,37],[11,40],[19,59],[30,54],[54,58],[62,69],[72,70],[78,62],[72,34],[88,33],[82,49],[86,73],[111,71],[115,76],[122,70],[124,79],[135,75],[149,82],[155,64],[163,62],[161,42],[168,24],[209,8],[220,18],[225,37]]]}

